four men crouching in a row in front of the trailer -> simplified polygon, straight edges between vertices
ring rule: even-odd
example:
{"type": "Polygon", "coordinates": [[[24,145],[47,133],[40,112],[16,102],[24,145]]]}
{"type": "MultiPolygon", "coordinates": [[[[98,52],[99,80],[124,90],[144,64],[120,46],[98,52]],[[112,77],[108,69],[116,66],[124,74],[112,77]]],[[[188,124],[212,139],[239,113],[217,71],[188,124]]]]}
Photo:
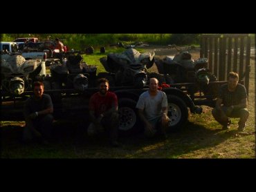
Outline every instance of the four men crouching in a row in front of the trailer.
{"type": "MultiPolygon", "coordinates": [[[[238,84],[237,73],[228,75],[228,84],[221,86],[216,107],[212,110],[214,119],[223,125],[223,129],[230,127],[229,117],[240,117],[239,131],[244,131],[249,116],[247,106],[246,88],[238,84]]],[[[118,97],[109,91],[107,79],[98,80],[99,91],[94,93],[89,100],[89,116],[91,124],[87,128],[88,135],[95,135],[103,131],[109,131],[110,144],[118,146],[118,97]]],[[[171,122],[168,113],[166,94],[158,90],[158,79],[151,78],[149,90],[142,93],[136,104],[138,116],[144,124],[145,135],[154,137],[161,133],[165,138],[166,131],[171,122]]],[[[49,95],[44,94],[44,84],[34,83],[34,95],[26,100],[24,116],[26,128],[24,128],[24,141],[37,138],[47,143],[51,137],[53,123],[53,103],[49,95]]]]}

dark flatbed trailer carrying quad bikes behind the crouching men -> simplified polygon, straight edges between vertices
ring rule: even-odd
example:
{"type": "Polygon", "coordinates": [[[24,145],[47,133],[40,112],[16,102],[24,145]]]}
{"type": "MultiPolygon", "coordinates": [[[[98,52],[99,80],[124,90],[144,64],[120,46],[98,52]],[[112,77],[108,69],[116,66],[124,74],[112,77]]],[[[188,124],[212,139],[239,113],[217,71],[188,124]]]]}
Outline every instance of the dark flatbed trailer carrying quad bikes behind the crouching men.
{"type": "MultiPolygon", "coordinates": [[[[211,82],[211,84],[220,86],[225,82],[216,81],[211,82]]],[[[179,131],[185,125],[188,121],[188,109],[191,113],[200,114],[202,113],[201,105],[214,106],[216,100],[214,95],[212,97],[205,97],[200,92],[200,89],[195,95],[188,95],[188,86],[196,86],[198,88],[196,84],[170,84],[170,88],[162,88],[167,95],[171,131],[179,131]]],[[[121,132],[134,133],[141,127],[137,115],[136,102],[140,94],[148,89],[148,86],[144,88],[134,88],[132,86],[110,88],[118,96],[119,129],[121,132]]],[[[97,91],[98,88],[87,88],[84,91],[60,89],[45,90],[44,93],[51,95],[55,119],[70,119],[73,121],[85,119],[87,121],[89,117],[89,99],[97,91]]],[[[33,91],[27,91],[19,95],[19,97],[12,95],[2,96],[1,121],[24,121],[22,113],[24,102],[30,95],[33,95],[33,91]]]]}

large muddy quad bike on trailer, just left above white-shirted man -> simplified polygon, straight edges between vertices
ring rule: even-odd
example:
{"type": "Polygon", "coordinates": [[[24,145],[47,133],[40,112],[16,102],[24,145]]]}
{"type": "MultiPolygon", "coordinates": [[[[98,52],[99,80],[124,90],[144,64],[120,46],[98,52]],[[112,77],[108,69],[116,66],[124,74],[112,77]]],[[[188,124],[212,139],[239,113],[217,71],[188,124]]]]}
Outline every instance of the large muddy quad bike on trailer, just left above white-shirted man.
{"type": "Polygon", "coordinates": [[[111,86],[134,86],[142,88],[147,84],[147,68],[154,64],[154,52],[140,53],[128,48],[122,53],[109,53],[100,58],[108,73],[99,73],[98,78],[106,77],[111,86]]]}

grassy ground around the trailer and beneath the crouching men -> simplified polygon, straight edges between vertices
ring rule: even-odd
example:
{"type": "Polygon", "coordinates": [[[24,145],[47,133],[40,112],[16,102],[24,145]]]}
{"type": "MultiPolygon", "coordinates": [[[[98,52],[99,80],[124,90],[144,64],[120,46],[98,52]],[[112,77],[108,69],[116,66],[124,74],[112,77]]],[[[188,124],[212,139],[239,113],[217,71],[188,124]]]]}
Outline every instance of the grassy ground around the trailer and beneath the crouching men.
{"type": "MultiPolygon", "coordinates": [[[[99,66],[100,55],[84,56],[88,64],[99,66]]],[[[192,54],[194,59],[198,52],[192,54]]],[[[167,140],[146,140],[143,135],[120,137],[122,147],[111,148],[104,135],[86,136],[85,126],[77,122],[55,122],[55,140],[49,146],[21,144],[24,122],[1,122],[1,158],[255,158],[255,57],[250,59],[250,117],[246,131],[237,132],[237,119],[229,131],[222,131],[211,110],[203,106],[201,115],[189,115],[189,122],[167,140]]]]}

